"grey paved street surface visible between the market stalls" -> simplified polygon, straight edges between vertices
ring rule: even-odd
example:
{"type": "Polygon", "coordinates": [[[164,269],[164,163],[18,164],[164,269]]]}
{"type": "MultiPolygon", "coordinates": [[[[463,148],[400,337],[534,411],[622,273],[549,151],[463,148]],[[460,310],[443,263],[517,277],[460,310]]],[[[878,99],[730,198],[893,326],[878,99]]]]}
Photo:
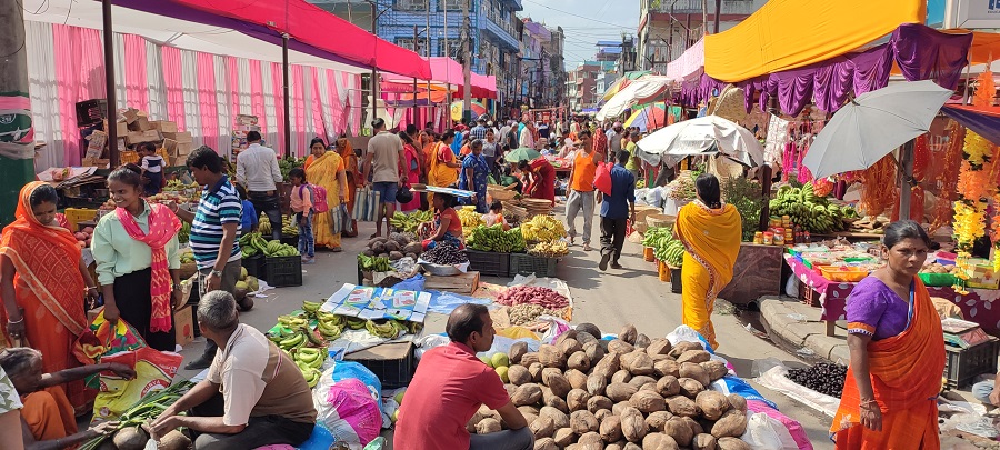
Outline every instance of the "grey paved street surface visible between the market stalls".
{"type": "MultiPolygon", "coordinates": [[[[564,220],[561,207],[557,208],[557,217],[564,220]]],[[[582,218],[578,219],[578,228],[582,227],[582,218]]],[[[359,236],[372,232],[372,223],[360,223],[359,236]]],[[[598,231],[594,227],[594,238],[598,231]]],[[[597,239],[594,239],[597,240],[597,239]]],[[[343,252],[317,252],[316,264],[306,266],[301,287],[280,288],[269,291],[267,299],[258,299],[250,312],[242,314],[241,320],[268,330],[274,324],[274,318],[301,307],[303,300],[326,300],[343,283],[357,282],[357,262],[354,257],[364,248],[364,238],[343,240],[343,252]]],[[[621,263],[622,270],[601,273],[598,269],[600,253],[582,252],[580,244],[572,247],[570,256],[563,258],[557,269],[557,277],[566,281],[573,296],[573,323],[591,322],[601,331],[617,333],[626,323],[652,337],[663,337],[681,324],[680,294],[671,293],[670,286],[659,281],[656,267],[641,258],[641,247],[626,242],[621,263]]],[[[506,283],[510,279],[487,279],[496,283],[506,283]]],[[[447,317],[429,314],[424,333],[444,331],[447,317]]],[[[737,373],[744,379],[751,378],[754,360],[776,358],[786,364],[796,366],[796,357],[779,349],[770,342],[752,336],[734,316],[713,317],[718,340],[721,344],[719,353],[729,360],[737,373]]],[[[201,354],[202,344],[199,338],[196,343],[184,348],[186,362],[201,354]]],[[[183,377],[192,377],[197,372],[181,371],[183,377]]],[[[768,400],[778,404],[786,416],[798,420],[809,434],[813,448],[832,449],[827,430],[830,419],[821,417],[817,411],[777,392],[772,392],[750,380],[768,400]]],[[[391,430],[383,430],[383,436],[391,430]]],[[[391,440],[390,440],[391,444],[391,440]]],[[[390,447],[391,448],[391,447],[390,447]]]]}

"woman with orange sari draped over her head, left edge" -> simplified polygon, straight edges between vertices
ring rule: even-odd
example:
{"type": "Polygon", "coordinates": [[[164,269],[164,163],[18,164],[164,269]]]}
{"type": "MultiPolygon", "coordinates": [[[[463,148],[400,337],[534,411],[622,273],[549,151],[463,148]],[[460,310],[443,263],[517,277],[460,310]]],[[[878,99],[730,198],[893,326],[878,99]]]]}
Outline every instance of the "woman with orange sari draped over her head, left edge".
{"type": "MultiPolygon", "coordinates": [[[[16,220],[0,240],[0,319],[7,338],[27,338],[44,354],[43,370],[49,373],[80,366],[72,349],[88,326],[83,300],[98,293],[73,233],[54,222],[58,201],[51,186],[26,184],[16,220]]],[[[64,388],[78,410],[91,400],[82,381],[64,388]]]]}

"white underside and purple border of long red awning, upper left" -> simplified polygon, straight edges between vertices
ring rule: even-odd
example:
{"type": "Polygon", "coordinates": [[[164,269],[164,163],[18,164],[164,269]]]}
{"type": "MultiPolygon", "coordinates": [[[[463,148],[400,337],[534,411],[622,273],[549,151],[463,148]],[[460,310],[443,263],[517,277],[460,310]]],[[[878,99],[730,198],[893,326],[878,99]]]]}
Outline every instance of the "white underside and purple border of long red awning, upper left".
{"type": "MultiPolygon", "coordinates": [[[[116,4],[111,7],[111,16],[116,32],[138,34],[150,41],[183,50],[268,62],[281,62],[282,60],[281,37],[266,27],[166,0],[113,1],[116,4]]],[[[98,1],[24,0],[23,8],[26,21],[103,29],[101,3],[98,1]]],[[[336,18],[332,14],[328,16],[336,18]]],[[[360,30],[350,23],[346,24],[360,30]]],[[[371,34],[368,36],[373,38],[371,34]]],[[[416,53],[410,53],[416,57],[416,53]]],[[[417,58],[419,59],[419,57],[417,58]]],[[[367,73],[371,70],[370,66],[352,60],[349,56],[338,54],[298,40],[289,41],[289,63],[350,73],[367,73]]],[[[394,69],[406,72],[423,73],[419,63],[414,68],[394,67],[394,69]]],[[[427,71],[429,72],[429,68],[427,71]]]]}

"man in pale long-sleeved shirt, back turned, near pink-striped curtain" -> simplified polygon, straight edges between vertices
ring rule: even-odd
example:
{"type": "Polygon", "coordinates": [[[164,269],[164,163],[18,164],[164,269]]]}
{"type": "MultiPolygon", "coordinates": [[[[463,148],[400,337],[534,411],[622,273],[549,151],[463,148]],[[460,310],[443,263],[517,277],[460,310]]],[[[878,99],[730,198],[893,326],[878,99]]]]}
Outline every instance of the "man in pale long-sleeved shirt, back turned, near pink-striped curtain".
{"type": "Polygon", "coordinates": [[[263,212],[271,222],[271,239],[281,239],[281,206],[278,188],[281,169],[278,167],[278,154],[274,150],[260,144],[260,132],[247,133],[247,150],[237,157],[236,181],[247,188],[250,202],[258,213],[263,212]]]}

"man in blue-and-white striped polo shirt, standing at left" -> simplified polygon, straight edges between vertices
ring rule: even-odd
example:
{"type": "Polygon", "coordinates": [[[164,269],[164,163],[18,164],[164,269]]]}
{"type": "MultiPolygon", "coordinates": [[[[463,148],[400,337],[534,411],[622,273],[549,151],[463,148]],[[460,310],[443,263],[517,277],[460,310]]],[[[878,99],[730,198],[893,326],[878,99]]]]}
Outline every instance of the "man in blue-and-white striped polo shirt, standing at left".
{"type": "MultiPolygon", "coordinates": [[[[188,156],[188,169],[201,184],[201,201],[196,212],[172,206],[181,220],[191,223],[190,246],[198,263],[201,294],[214,290],[232,293],[240,278],[242,252],[237,241],[243,204],[229,177],[222,174],[222,158],[207,146],[188,156]]],[[[200,370],[216,358],[216,342],[206,341],[204,354],[184,367],[200,370]]]]}

